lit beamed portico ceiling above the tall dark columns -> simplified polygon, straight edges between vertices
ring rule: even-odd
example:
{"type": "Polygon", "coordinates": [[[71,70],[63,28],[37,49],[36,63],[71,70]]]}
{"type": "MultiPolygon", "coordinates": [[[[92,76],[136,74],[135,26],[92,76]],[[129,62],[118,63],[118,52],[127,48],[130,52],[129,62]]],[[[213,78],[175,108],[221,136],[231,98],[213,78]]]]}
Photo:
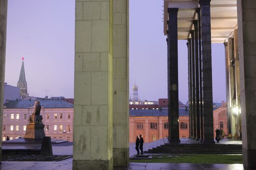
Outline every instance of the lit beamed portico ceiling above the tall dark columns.
{"type": "MultiPolygon", "coordinates": [[[[167,35],[169,8],[179,8],[178,39],[188,39],[194,29],[192,21],[197,19],[195,9],[200,7],[198,0],[164,0],[164,35],[167,35]]],[[[236,0],[211,0],[211,39],[212,43],[223,43],[237,28],[236,0]]]]}

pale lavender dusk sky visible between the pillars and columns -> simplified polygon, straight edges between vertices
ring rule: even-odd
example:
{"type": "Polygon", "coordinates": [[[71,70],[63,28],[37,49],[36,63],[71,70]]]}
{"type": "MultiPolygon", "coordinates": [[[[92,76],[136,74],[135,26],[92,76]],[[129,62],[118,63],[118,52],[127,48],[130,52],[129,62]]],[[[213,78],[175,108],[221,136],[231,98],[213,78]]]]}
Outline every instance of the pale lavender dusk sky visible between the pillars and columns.
{"type": "MultiPolygon", "coordinates": [[[[22,57],[30,96],[74,97],[75,1],[9,0],[5,82],[17,86],[22,57]]],[[[142,100],[167,98],[163,1],[129,1],[129,90],[142,100]],[[144,9],[144,10],[143,10],[144,9]],[[149,12],[150,11],[150,12],[149,12]]],[[[188,100],[186,40],[179,41],[179,100],[188,100]]],[[[224,45],[212,45],[213,101],[226,101],[224,45]]]]}

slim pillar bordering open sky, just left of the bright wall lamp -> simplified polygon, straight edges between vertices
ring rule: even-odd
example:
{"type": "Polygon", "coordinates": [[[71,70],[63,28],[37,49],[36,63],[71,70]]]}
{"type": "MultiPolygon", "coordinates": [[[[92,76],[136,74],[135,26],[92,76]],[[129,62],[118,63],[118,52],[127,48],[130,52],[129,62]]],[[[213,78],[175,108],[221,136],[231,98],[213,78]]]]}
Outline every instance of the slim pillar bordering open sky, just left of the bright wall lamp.
{"type": "Polygon", "coordinates": [[[230,94],[229,94],[229,48],[228,42],[224,43],[225,48],[225,65],[226,65],[226,97],[227,97],[227,114],[228,114],[228,133],[231,134],[231,108],[230,108],[230,94]]]}

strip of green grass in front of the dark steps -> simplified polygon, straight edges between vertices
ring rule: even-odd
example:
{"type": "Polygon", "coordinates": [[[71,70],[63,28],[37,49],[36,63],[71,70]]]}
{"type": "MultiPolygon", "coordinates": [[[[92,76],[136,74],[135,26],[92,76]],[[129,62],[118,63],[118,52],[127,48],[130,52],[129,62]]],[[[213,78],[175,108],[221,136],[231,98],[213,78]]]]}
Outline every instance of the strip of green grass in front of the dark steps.
{"type": "Polygon", "coordinates": [[[242,155],[175,154],[157,155],[152,159],[130,159],[132,163],[243,164],[242,155]]]}

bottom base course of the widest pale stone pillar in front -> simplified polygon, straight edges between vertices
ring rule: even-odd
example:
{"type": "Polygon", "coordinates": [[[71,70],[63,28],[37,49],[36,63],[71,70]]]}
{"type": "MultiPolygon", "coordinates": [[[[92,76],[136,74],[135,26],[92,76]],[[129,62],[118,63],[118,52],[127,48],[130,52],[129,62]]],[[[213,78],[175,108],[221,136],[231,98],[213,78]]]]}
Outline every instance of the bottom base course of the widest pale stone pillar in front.
{"type": "Polygon", "coordinates": [[[109,160],[73,160],[73,170],[113,170],[113,157],[109,160]]]}

